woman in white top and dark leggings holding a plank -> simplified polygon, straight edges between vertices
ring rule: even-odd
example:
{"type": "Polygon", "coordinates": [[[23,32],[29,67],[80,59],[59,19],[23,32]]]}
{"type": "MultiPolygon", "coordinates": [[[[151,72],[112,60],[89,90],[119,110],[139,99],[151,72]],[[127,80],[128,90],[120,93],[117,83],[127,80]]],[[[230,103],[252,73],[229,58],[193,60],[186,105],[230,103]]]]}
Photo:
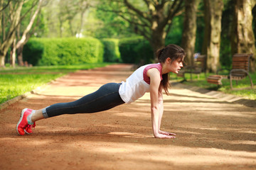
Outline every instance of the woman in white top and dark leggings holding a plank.
{"type": "Polygon", "coordinates": [[[109,83],[100,87],[77,101],[56,103],[41,110],[23,109],[21,118],[16,125],[19,135],[30,134],[36,121],[63,114],[96,113],[106,111],[123,103],[132,103],[150,92],[151,121],[154,137],[175,138],[174,133],[160,130],[161,118],[164,112],[162,90],[169,94],[169,72],[178,73],[183,67],[184,50],[178,45],[167,45],[156,55],[158,64],[146,64],[139,67],[128,79],[121,84],[109,83]]]}

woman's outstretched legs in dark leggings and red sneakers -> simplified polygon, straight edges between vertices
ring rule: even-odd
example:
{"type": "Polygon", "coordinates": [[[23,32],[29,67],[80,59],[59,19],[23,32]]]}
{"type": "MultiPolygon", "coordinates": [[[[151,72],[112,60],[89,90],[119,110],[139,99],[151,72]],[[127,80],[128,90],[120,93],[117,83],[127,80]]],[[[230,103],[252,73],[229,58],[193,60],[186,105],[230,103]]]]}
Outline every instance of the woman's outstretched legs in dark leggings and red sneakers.
{"type": "Polygon", "coordinates": [[[38,111],[24,108],[16,125],[16,131],[19,135],[31,134],[31,128],[36,126],[36,120],[63,114],[95,113],[121,105],[124,101],[119,96],[119,86],[120,84],[115,83],[105,84],[94,93],[88,94],[77,101],[57,103],[38,111]]]}

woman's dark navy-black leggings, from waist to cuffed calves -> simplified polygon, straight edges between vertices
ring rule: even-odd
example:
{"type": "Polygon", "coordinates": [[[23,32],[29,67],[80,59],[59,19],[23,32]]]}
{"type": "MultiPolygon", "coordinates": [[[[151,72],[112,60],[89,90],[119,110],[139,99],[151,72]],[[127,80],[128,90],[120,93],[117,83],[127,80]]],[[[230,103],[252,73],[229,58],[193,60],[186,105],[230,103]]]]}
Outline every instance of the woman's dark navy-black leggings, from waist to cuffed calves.
{"type": "Polygon", "coordinates": [[[44,118],[56,115],[75,113],[95,113],[106,111],[124,103],[119,96],[119,86],[121,84],[109,83],[100,87],[92,94],[88,94],[68,103],[56,103],[43,109],[44,118]]]}

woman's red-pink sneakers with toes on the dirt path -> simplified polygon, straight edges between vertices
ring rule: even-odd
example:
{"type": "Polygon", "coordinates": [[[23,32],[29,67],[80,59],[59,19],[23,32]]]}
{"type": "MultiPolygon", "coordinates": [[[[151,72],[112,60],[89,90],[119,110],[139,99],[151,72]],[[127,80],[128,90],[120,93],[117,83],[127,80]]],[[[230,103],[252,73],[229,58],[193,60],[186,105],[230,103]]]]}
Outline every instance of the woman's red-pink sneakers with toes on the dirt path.
{"type": "MultiPolygon", "coordinates": [[[[18,132],[19,135],[25,135],[26,128],[27,128],[26,132],[32,132],[32,130],[31,130],[32,125],[28,126],[28,120],[27,120],[27,117],[28,117],[28,115],[31,114],[31,111],[32,110],[28,109],[28,108],[24,108],[21,111],[21,118],[20,118],[20,120],[18,120],[18,124],[16,125],[16,131],[18,132]]],[[[35,125],[35,123],[34,123],[34,125],[35,125]]]]}

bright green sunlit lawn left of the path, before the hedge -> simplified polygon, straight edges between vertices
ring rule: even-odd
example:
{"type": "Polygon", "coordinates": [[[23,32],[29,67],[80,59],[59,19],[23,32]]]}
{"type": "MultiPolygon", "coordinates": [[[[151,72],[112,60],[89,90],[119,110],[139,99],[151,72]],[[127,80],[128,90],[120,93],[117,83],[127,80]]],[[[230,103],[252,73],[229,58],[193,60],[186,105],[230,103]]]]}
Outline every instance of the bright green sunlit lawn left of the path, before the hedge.
{"type": "Polygon", "coordinates": [[[70,66],[17,67],[0,69],[0,104],[25,94],[58,77],[79,69],[104,67],[108,63],[79,64],[70,66]]]}

